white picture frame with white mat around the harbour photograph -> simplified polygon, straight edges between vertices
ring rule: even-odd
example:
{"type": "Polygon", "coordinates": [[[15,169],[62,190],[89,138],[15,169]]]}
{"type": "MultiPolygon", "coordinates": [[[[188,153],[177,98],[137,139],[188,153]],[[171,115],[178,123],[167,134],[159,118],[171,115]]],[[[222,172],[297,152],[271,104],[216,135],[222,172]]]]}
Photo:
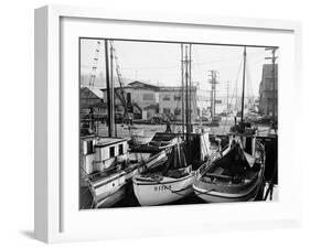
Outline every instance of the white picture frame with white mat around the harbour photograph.
{"type": "MultiPolygon", "coordinates": [[[[120,26],[119,29],[121,30],[124,28],[120,26]]],[[[88,29],[87,32],[89,32],[87,35],[94,36],[97,31],[88,29]]],[[[121,37],[121,34],[115,35],[121,37]]],[[[139,39],[138,34],[135,35],[135,39],[139,39]]],[[[169,36],[170,34],[167,35],[169,36]]],[[[185,39],[189,34],[182,35],[184,36],[175,39],[185,39]]],[[[168,36],[163,36],[161,40],[167,40],[169,39],[168,36]]],[[[225,35],[222,35],[222,40],[224,41],[225,39],[227,40],[225,35]]],[[[188,40],[191,40],[191,37],[188,37],[188,40]]],[[[216,37],[214,40],[218,42],[221,37],[218,37],[218,41],[216,41],[216,37]]],[[[258,40],[257,37],[256,41],[263,44],[264,40],[261,37],[258,40]]],[[[141,13],[63,6],[47,6],[36,9],[35,238],[45,242],[61,242],[204,232],[225,229],[298,226],[301,223],[301,196],[293,194],[290,187],[298,188],[301,186],[300,172],[302,164],[298,163],[297,153],[293,150],[289,151],[290,148],[287,145],[287,143],[290,143],[295,148],[293,144],[297,143],[297,140],[293,136],[281,137],[281,134],[293,134],[297,129],[293,123],[288,123],[287,121],[289,119],[288,112],[293,112],[293,106],[298,105],[301,94],[300,50],[301,24],[292,21],[188,14],[170,15],[168,13],[141,13]],[[71,19],[78,20],[79,23],[62,24],[63,20],[71,19]],[[83,26],[83,22],[85,22],[85,26],[83,26]],[[67,107],[64,108],[64,106],[66,106],[65,102],[68,101],[68,98],[75,101],[78,94],[77,91],[68,94],[67,91],[67,87],[71,87],[71,85],[66,76],[62,74],[64,74],[64,67],[71,68],[66,67],[66,62],[63,62],[64,57],[70,55],[70,52],[63,56],[66,51],[64,51],[65,45],[62,46],[61,43],[62,36],[66,35],[64,32],[68,32],[72,35],[71,39],[75,39],[78,32],[83,33],[83,30],[87,29],[87,25],[89,28],[95,22],[103,23],[103,25],[110,25],[114,22],[121,23],[121,25],[139,24],[139,26],[145,28],[152,25],[159,30],[158,35],[164,35],[165,32],[161,33],[160,30],[168,29],[167,26],[169,29],[173,29],[173,26],[180,29],[183,26],[188,30],[200,29],[201,31],[203,29],[210,29],[224,33],[229,30],[233,33],[242,32],[244,36],[232,36],[234,41],[231,41],[231,43],[236,44],[238,44],[238,41],[239,44],[255,44],[255,32],[261,32],[261,35],[265,35],[267,40],[271,39],[268,41],[271,45],[279,45],[278,42],[284,42],[284,50],[281,51],[284,66],[279,69],[279,86],[281,88],[279,95],[279,182],[282,184],[279,202],[249,203],[246,205],[223,204],[143,207],[136,209],[120,208],[95,212],[79,212],[78,206],[74,207],[77,198],[77,190],[74,192],[74,187],[72,186],[76,185],[78,176],[75,173],[72,175],[68,174],[70,167],[64,163],[67,162],[67,159],[64,159],[65,156],[62,151],[65,149],[64,141],[72,138],[70,136],[65,138],[67,136],[65,132],[67,130],[65,129],[66,124],[64,123],[64,120],[67,120],[65,113],[70,113],[70,108],[76,107],[72,106],[66,109],[67,107]],[[79,25],[81,30],[74,30],[75,25],[79,25]],[[74,31],[71,33],[70,29],[74,31]],[[253,35],[247,36],[247,33],[253,33],[253,35]],[[67,84],[63,84],[64,82],[67,84]],[[74,96],[74,93],[76,96],[74,96]],[[293,104],[290,104],[290,106],[285,101],[288,97],[296,100],[291,101],[293,104]],[[287,158],[284,160],[285,154],[287,158]],[[293,172],[289,172],[289,164],[293,165],[293,172]],[[288,183],[289,177],[290,182],[288,183]],[[71,202],[68,193],[73,196],[73,202],[71,202]],[[234,217],[228,216],[229,213],[234,213],[234,217]],[[182,220],[180,220],[180,217],[182,217],[182,220]],[[98,221],[96,223],[95,220],[98,221]],[[122,226],[119,226],[120,223],[122,226]],[[105,225],[103,226],[103,224],[105,225]]],[[[72,67],[77,67],[78,62],[71,65],[72,67]]],[[[293,116],[298,117],[298,112],[293,113],[293,116]]],[[[78,137],[75,138],[76,141],[78,137]]],[[[72,149],[72,153],[70,154],[72,156],[76,154],[76,159],[78,156],[77,151],[74,149],[72,149]]]]}

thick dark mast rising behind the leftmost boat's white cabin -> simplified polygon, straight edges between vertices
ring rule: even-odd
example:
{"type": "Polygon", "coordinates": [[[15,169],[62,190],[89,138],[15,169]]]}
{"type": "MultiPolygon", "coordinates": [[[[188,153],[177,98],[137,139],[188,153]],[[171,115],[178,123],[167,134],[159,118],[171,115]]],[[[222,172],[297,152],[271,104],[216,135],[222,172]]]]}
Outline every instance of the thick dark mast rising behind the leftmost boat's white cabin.
{"type": "Polygon", "coordinates": [[[108,100],[108,132],[109,137],[115,137],[115,116],[114,116],[114,85],[110,80],[110,63],[109,63],[109,50],[108,40],[105,40],[105,57],[106,57],[106,83],[107,83],[107,100],[108,100]]]}

